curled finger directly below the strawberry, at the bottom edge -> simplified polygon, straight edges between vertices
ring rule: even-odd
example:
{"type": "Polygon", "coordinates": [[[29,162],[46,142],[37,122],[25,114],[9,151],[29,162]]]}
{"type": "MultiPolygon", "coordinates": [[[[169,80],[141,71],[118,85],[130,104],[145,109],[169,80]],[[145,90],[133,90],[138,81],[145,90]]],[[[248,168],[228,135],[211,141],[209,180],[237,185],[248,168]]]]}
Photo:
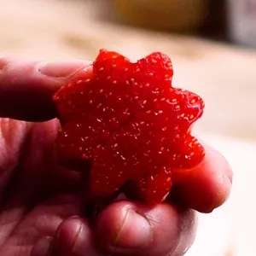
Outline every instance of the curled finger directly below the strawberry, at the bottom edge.
{"type": "Polygon", "coordinates": [[[183,255],[195,238],[195,212],[116,201],[96,221],[96,241],[111,255],[183,255]]]}

